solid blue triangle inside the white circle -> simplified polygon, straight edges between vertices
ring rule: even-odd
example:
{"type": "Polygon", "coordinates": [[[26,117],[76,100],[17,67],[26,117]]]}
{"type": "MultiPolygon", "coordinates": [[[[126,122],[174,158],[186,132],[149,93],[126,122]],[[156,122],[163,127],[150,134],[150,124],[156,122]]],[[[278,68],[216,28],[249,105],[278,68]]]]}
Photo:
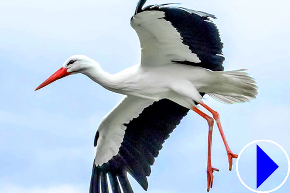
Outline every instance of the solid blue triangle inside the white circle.
{"type": "Polygon", "coordinates": [[[257,188],[259,188],[278,167],[279,166],[257,145],[257,188]]]}

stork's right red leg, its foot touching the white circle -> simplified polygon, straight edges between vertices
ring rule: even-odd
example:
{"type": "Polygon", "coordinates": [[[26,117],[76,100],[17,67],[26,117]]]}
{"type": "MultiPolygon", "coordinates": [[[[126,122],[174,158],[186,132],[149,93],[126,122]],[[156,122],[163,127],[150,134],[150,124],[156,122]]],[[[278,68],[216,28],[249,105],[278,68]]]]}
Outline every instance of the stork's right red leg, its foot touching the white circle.
{"type": "Polygon", "coordinates": [[[212,116],[213,118],[216,120],[216,124],[219,128],[219,133],[220,135],[222,136],[222,139],[223,139],[223,143],[226,147],[226,150],[227,150],[227,155],[228,155],[228,160],[229,160],[229,170],[232,170],[232,165],[233,165],[233,158],[237,158],[237,154],[234,154],[231,150],[230,150],[230,147],[227,143],[227,140],[226,140],[226,137],[225,137],[225,134],[223,133],[223,128],[222,128],[222,125],[220,123],[220,120],[219,120],[219,113],[212,110],[208,105],[206,105],[205,103],[203,102],[200,102],[199,103],[201,106],[203,106],[205,109],[207,109],[210,113],[212,113],[212,116]]]}

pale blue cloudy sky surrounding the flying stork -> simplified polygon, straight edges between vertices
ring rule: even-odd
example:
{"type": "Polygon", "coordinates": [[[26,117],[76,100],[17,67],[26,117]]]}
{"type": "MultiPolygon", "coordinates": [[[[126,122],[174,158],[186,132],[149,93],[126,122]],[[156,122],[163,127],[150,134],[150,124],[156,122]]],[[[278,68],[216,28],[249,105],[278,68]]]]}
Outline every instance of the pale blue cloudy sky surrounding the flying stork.
{"type": "MultiPolygon", "coordinates": [[[[88,55],[110,73],[139,63],[140,43],[129,24],[136,2],[1,2],[0,192],[88,192],[96,128],[122,96],[80,74],[34,89],[74,54],[88,55]]],[[[167,2],[148,0],[147,5],[167,2]]],[[[233,152],[251,141],[270,139],[289,153],[290,3],[176,2],[216,15],[225,70],[246,68],[256,78],[259,95],[250,103],[205,99],[220,113],[233,152]]],[[[205,120],[190,112],[151,167],[148,192],[206,192],[207,134],[205,120]]],[[[235,161],[228,171],[217,127],[212,159],[220,172],[214,174],[211,192],[251,192],[238,180],[235,161]]],[[[145,192],[132,178],[131,183],[136,193],[145,192]]],[[[276,192],[289,188],[287,180],[276,192]]]]}

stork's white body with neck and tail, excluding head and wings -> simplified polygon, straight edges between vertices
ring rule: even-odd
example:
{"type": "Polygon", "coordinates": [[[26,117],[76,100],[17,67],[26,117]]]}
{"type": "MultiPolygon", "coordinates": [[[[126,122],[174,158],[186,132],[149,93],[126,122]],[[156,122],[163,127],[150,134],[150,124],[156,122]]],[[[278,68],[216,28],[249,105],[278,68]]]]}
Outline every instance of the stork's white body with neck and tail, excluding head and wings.
{"type": "Polygon", "coordinates": [[[204,92],[224,103],[247,102],[257,95],[255,80],[245,70],[211,71],[202,67],[166,64],[135,65],[116,74],[100,73],[96,62],[85,73],[108,90],[151,100],[168,98],[187,108],[200,102],[204,92]],[[106,79],[107,76],[107,79],[106,79]],[[107,82],[107,81],[109,82],[107,82]]]}

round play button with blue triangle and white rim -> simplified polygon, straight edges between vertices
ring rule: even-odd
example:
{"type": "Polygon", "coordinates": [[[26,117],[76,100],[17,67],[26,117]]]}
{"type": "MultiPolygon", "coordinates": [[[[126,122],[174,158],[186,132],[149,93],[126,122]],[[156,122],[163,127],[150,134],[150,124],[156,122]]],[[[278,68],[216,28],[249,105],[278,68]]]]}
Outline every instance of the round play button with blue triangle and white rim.
{"type": "MultiPolygon", "coordinates": [[[[285,184],[290,159],[278,143],[259,139],[245,145],[238,154],[236,171],[241,183],[257,193],[270,193],[285,184]]],[[[284,187],[284,189],[287,189],[284,187]]],[[[284,192],[284,191],[280,191],[284,192]]]]}

